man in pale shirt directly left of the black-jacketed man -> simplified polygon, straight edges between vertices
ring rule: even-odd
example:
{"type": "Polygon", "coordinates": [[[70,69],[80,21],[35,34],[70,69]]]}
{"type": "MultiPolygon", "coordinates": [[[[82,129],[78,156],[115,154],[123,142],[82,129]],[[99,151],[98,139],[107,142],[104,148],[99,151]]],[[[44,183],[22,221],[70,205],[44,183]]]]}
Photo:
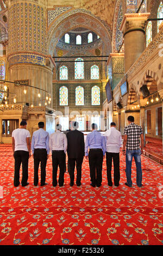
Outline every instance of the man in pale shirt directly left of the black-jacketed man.
{"type": "Polygon", "coordinates": [[[64,185],[65,161],[67,151],[67,137],[61,133],[62,126],[56,125],[56,131],[49,137],[49,148],[52,152],[52,166],[53,166],[53,187],[64,185]],[[59,180],[57,181],[57,170],[59,166],[59,180]]]}

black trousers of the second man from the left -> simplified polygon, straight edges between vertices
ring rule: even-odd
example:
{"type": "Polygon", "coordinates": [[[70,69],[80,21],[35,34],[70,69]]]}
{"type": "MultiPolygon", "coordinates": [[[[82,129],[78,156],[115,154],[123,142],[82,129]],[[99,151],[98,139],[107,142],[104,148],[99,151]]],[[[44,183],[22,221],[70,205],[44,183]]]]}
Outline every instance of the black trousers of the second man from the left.
{"type": "Polygon", "coordinates": [[[34,149],[34,185],[37,186],[39,182],[39,164],[41,167],[41,185],[45,184],[46,180],[46,163],[47,163],[47,150],[34,149]]]}

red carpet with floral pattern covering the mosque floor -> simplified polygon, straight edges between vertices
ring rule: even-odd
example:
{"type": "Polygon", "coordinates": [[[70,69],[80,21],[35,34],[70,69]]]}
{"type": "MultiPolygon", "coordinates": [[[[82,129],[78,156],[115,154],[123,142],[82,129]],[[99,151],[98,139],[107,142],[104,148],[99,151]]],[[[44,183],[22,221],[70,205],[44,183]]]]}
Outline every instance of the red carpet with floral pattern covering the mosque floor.
{"type": "MultiPolygon", "coordinates": [[[[121,185],[109,187],[106,164],[99,188],[90,186],[84,160],[82,186],[52,187],[52,161],[47,164],[47,186],[33,186],[33,159],[27,187],[13,186],[14,159],[10,145],[0,145],[0,245],[162,245],[163,205],[159,186],[163,167],[142,156],[143,187],[126,182],[121,155],[121,185]]],[[[161,190],[161,187],[160,187],[161,190]]],[[[162,187],[163,190],[163,187],[162,187]]]]}

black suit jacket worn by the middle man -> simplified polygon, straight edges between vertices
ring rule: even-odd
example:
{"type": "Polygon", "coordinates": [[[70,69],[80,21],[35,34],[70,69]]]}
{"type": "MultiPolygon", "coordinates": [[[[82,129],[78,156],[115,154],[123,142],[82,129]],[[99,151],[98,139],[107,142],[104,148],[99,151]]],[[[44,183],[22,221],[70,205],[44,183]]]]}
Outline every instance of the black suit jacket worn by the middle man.
{"type": "Polygon", "coordinates": [[[78,130],[67,133],[68,158],[81,158],[85,155],[84,134],[78,130]]]}

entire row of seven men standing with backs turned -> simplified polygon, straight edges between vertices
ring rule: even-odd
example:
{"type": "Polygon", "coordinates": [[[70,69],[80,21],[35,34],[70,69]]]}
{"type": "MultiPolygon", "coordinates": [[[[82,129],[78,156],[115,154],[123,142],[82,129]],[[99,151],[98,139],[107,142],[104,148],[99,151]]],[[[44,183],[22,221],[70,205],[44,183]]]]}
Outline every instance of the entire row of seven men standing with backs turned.
{"type": "MultiPolygon", "coordinates": [[[[132,186],[131,162],[134,157],[136,163],[136,184],[142,186],[141,151],[143,150],[142,128],[134,124],[134,117],[128,117],[129,125],[124,129],[123,155],[126,155],[127,186],[132,186]],[[141,138],[141,150],[140,150],[141,138]]],[[[34,186],[39,182],[39,164],[41,167],[41,186],[46,183],[46,164],[50,151],[52,152],[52,184],[53,186],[64,185],[64,174],[66,172],[66,152],[68,155],[67,169],[70,174],[70,186],[74,185],[74,169],[77,169],[77,186],[81,185],[82,163],[85,156],[89,160],[90,179],[92,187],[102,185],[102,166],[106,153],[106,167],[108,185],[112,186],[111,167],[114,162],[114,185],[120,184],[120,148],[122,147],[121,132],[116,130],[116,124],[112,122],[110,129],[104,133],[98,132],[97,125],[92,124],[92,132],[86,136],[84,142],[83,132],[78,131],[78,123],[72,121],[70,130],[62,133],[61,125],[56,125],[56,131],[50,136],[44,130],[44,123],[39,122],[39,129],[33,133],[30,145],[30,133],[26,130],[27,122],[21,121],[20,128],[12,132],[12,150],[15,159],[14,186],[20,185],[20,166],[22,163],[22,186],[28,183],[28,160],[34,159],[34,186]],[[59,166],[59,179],[57,172],[59,166]]]]}

